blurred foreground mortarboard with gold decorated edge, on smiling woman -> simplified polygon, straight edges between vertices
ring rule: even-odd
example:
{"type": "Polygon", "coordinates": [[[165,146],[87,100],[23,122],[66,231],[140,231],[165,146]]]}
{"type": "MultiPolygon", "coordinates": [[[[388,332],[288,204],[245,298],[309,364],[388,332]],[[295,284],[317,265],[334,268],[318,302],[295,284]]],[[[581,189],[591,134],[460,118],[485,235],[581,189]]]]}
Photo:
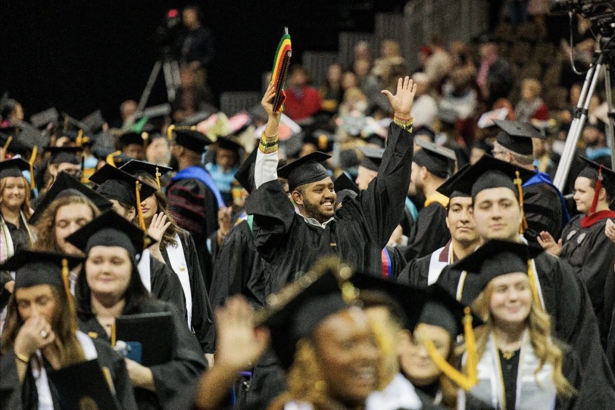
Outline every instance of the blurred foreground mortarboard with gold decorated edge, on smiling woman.
{"type": "Polygon", "coordinates": [[[317,262],[308,273],[269,295],[255,323],[271,331],[271,345],[285,369],[295,359],[297,342],[307,338],[328,316],[353,306],[352,269],[337,258],[317,262]]]}

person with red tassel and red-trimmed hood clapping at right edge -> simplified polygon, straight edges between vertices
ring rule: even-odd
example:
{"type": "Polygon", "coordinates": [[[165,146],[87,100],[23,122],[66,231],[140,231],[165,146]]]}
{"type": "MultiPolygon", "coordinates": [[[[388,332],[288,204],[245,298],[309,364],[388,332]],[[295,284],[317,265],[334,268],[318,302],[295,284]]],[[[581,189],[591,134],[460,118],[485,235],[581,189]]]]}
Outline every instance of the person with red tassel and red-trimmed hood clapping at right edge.
{"type": "Polygon", "coordinates": [[[615,249],[605,234],[606,222],[615,218],[615,212],[609,209],[615,198],[615,172],[581,159],[587,166],[574,181],[574,201],[581,214],[568,222],[559,241],[546,231],[538,239],[547,252],[568,261],[585,283],[605,346],[615,297],[615,249]]]}

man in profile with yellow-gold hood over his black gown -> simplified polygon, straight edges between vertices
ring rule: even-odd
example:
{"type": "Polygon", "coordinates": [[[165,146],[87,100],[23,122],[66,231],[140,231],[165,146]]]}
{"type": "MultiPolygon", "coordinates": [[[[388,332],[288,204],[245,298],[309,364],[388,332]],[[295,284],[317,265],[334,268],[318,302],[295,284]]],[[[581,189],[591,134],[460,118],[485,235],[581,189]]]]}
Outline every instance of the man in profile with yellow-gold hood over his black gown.
{"type": "Polygon", "coordinates": [[[438,147],[429,141],[416,139],[421,147],[412,160],[411,184],[426,199],[423,209],[416,217],[408,236],[406,260],[421,258],[446,245],[450,233],[446,227],[448,198],[437,191],[453,173],[455,154],[453,150],[438,147]]]}

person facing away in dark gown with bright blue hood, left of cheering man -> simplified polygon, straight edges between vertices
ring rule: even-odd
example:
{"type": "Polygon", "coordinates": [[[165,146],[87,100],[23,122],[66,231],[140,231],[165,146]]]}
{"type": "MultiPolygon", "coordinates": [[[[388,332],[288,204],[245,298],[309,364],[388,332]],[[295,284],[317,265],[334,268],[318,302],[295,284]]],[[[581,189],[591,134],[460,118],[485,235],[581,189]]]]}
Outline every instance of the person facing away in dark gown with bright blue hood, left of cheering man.
{"type": "Polygon", "coordinates": [[[201,164],[201,155],[212,141],[190,128],[169,127],[175,136],[171,145],[172,162],[177,174],[167,187],[169,211],[177,224],[192,234],[196,245],[205,287],[210,287],[212,261],[207,250],[207,237],[218,230],[218,209],[224,200],[212,176],[201,164]]]}

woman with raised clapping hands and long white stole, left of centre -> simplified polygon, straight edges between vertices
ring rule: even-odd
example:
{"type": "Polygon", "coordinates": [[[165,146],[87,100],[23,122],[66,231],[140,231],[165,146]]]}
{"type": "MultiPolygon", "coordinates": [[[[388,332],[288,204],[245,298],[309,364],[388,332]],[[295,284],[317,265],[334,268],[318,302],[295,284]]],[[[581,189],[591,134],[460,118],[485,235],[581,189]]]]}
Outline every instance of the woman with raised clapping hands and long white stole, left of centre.
{"type": "MultiPolygon", "coordinates": [[[[141,182],[156,191],[141,201],[141,212],[145,226],[151,226],[154,219],[167,217],[167,229],[162,232],[159,240],[159,249],[164,263],[177,274],[181,282],[186,300],[188,313],[188,327],[194,331],[200,346],[205,353],[213,353],[214,328],[213,311],[205,289],[205,282],[200,272],[199,258],[192,235],[175,223],[175,219],[167,209],[167,197],[162,193],[159,185],[160,178],[171,169],[165,166],[132,160],[121,167],[122,171],[129,172],[141,182]]],[[[135,222],[138,223],[137,217],[135,222]]],[[[155,222],[154,222],[155,223],[155,222]]],[[[146,269],[148,266],[140,266],[146,269]]]]}

